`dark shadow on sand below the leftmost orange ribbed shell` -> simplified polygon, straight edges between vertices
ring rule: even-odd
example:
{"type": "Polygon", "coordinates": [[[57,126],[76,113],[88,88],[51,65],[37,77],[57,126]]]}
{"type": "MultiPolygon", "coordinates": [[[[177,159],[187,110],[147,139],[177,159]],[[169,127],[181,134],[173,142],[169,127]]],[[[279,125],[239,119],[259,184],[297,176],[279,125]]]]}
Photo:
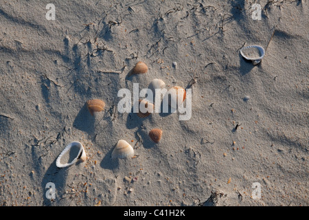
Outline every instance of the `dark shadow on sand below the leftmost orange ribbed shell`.
{"type": "Polygon", "coordinates": [[[84,104],[82,109],[78,112],[78,115],[76,115],[76,118],[73,122],[73,127],[80,131],[85,131],[88,134],[94,133],[95,129],[95,117],[92,116],[87,108],[87,103],[84,104]]]}

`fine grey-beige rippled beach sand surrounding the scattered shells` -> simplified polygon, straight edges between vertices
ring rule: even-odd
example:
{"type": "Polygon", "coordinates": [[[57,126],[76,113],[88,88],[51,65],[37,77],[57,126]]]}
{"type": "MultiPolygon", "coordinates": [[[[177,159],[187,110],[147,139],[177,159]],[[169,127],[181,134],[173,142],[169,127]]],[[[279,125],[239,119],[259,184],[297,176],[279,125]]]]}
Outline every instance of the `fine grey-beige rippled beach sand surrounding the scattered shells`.
{"type": "Polygon", "coordinates": [[[47,3],[0,0],[0,206],[308,206],[308,1],[47,3]],[[192,89],[190,120],[117,111],[155,78],[192,89]],[[120,139],[135,157],[111,159],[120,139]],[[73,141],[87,161],[57,168],[73,141]]]}

